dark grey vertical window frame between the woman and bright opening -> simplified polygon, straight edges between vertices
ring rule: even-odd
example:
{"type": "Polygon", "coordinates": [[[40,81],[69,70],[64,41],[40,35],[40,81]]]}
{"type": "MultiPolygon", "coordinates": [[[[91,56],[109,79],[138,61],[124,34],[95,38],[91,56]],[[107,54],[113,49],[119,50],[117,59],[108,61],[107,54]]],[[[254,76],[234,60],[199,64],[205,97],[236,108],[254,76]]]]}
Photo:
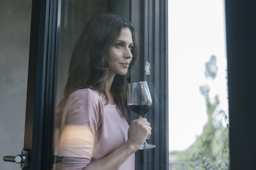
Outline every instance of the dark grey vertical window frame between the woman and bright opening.
{"type": "MultiPolygon", "coordinates": [[[[139,60],[131,81],[149,84],[153,106],[145,117],[152,127],[149,143],[156,145],[154,149],[135,153],[136,169],[169,169],[167,3],[166,0],[131,0],[131,23],[139,40],[139,60]],[[147,61],[150,75],[144,71],[147,61]]],[[[134,118],[137,117],[131,114],[131,119],[134,118]]]]}

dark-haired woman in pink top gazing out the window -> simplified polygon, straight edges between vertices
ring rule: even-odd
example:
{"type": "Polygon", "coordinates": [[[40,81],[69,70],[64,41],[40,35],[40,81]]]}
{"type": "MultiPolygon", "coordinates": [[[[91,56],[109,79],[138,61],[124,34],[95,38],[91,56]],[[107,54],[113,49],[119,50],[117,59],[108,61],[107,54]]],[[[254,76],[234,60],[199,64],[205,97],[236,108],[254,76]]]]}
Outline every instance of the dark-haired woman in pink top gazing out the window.
{"type": "Polygon", "coordinates": [[[103,14],[86,24],[57,111],[60,169],[134,169],[134,152],[151,134],[146,118],[127,123],[126,74],[136,57],[125,19],[103,14]]]}

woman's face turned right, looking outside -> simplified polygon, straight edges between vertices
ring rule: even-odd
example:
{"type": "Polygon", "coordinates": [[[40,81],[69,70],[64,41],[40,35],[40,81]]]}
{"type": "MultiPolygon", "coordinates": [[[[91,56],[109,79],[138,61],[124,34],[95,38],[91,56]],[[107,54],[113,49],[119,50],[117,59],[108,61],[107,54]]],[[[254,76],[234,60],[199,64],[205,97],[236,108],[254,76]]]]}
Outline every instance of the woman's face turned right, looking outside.
{"type": "Polygon", "coordinates": [[[132,61],[132,33],[124,27],[115,43],[108,49],[109,75],[125,75],[132,61]]]}

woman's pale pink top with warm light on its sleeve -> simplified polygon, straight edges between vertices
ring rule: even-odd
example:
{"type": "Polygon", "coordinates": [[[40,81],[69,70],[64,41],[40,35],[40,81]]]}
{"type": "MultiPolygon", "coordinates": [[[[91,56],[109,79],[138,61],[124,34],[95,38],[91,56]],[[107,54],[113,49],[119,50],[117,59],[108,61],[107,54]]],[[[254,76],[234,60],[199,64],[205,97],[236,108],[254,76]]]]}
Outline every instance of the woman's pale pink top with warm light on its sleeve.
{"type": "MultiPolygon", "coordinates": [[[[65,158],[60,169],[83,169],[106,157],[124,145],[128,128],[116,105],[106,105],[98,92],[89,88],[73,92],[62,113],[58,156],[65,158]]],[[[133,154],[118,169],[133,170],[134,161],[133,154]]]]}

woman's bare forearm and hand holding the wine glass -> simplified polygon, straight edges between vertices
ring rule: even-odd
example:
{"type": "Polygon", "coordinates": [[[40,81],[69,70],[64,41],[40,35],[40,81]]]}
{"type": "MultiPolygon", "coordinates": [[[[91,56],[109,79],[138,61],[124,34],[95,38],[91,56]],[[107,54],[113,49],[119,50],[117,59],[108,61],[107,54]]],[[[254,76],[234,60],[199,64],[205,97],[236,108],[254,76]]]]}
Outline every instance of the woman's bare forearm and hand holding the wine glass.
{"type": "Polygon", "coordinates": [[[121,147],[117,148],[108,156],[91,162],[84,170],[113,170],[122,165],[135,151],[137,151],[143,142],[150,136],[150,123],[146,118],[140,118],[132,121],[128,130],[128,139],[121,147]]]}

